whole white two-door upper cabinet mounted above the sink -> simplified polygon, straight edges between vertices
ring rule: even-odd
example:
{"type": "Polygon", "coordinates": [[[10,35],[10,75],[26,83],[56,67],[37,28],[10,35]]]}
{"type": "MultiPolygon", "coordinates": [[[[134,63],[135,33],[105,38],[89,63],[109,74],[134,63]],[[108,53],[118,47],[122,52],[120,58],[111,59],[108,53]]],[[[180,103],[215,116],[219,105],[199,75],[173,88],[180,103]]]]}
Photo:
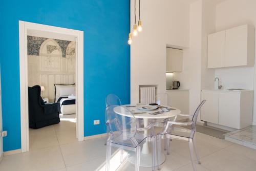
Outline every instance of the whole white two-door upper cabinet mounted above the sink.
{"type": "Polygon", "coordinates": [[[208,35],[207,68],[254,66],[254,33],[243,25],[208,35]]]}

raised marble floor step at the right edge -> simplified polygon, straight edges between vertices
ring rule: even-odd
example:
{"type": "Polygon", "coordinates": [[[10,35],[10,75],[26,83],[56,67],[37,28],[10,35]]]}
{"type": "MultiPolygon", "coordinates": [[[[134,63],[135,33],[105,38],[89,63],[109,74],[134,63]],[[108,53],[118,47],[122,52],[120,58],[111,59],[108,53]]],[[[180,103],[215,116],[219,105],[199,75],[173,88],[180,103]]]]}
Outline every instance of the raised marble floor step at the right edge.
{"type": "Polygon", "coordinates": [[[225,139],[240,145],[256,149],[256,126],[248,126],[245,129],[225,134],[225,139]]]}

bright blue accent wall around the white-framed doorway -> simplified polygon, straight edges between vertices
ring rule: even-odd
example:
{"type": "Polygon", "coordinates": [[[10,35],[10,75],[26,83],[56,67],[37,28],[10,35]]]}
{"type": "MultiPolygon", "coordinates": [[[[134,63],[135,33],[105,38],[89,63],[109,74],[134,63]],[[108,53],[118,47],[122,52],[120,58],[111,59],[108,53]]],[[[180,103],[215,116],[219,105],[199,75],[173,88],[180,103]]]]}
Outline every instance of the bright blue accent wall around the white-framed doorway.
{"type": "Polygon", "coordinates": [[[130,102],[130,1],[1,1],[4,151],[21,147],[18,20],[84,32],[84,136],[105,133],[105,96],[130,102]]]}

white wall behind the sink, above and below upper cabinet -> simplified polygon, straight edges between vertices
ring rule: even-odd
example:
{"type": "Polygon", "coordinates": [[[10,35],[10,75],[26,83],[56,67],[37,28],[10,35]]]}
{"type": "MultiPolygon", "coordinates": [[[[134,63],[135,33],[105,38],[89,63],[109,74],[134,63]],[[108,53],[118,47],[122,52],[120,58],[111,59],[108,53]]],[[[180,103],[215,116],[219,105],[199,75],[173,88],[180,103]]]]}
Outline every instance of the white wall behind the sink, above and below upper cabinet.
{"type": "MultiPolygon", "coordinates": [[[[216,8],[216,30],[225,30],[232,27],[251,24],[256,27],[255,0],[228,0],[216,8]]],[[[256,44],[255,44],[256,46],[256,44]]],[[[256,97],[256,71],[254,67],[217,69],[218,76],[224,88],[242,88],[254,90],[256,97]]],[[[253,105],[253,122],[256,124],[256,100],[253,105]]]]}

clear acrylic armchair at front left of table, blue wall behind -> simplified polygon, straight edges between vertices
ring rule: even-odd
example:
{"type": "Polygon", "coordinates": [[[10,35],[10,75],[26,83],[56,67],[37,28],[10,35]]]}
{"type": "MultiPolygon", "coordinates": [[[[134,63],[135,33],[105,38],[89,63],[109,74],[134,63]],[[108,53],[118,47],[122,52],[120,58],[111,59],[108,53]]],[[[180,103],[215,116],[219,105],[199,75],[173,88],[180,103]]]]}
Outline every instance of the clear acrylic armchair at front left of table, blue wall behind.
{"type": "Polygon", "coordinates": [[[120,149],[120,161],[123,162],[123,150],[135,152],[135,171],[140,167],[141,145],[148,138],[153,143],[152,168],[155,170],[156,140],[151,131],[151,135],[144,135],[144,132],[151,129],[148,125],[145,128],[139,128],[134,115],[124,106],[111,105],[105,110],[106,126],[109,127],[109,137],[106,149],[106,171],[110,170],[111,147],[120,149]],[[114,109],[118,107],[118,113],[114,109]]]}

